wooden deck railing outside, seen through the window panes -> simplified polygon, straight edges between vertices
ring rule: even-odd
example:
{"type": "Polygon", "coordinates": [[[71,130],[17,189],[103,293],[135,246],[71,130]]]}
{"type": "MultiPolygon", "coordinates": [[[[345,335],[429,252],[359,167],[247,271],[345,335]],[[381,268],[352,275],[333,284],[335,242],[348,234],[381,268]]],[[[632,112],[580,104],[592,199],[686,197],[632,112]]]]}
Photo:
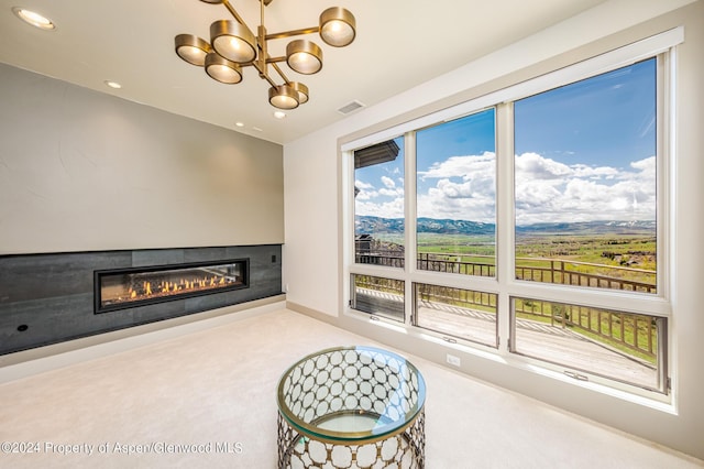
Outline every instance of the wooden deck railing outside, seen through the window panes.
{"type": "MultiPolygon", "coordinates": [[[[494,259],[493,255],[473,255],[473,258],[494,259]]],[[[642,269],[631,269],[595,264],[588,262],[564,261],[559,259],[517,258],[516,277],[535,282],[580,285],[609,290],[656,293],[656,273],[642,269]],[[526,265],[534,263],[536,265],[526,265]],[[588,272],[592,271],[592,272],[588,272]],[[628,279],[630,276],[631,279],[628,279]],[[632,280],[632,277],[645,279],[632,280]]],[[[403,253],[358,253],[358,263],[403,268],[403,253]]],[[[492,262],[468,262],[462,254],[419,253],[417,266],[420,270],[448,272],[464,275],[494,276],[496,266],[492,262]]],[[[383,290],[386,292],[398,290],[392,285],[375,285],[370,277],[360,276],[365,288],[383,290]]],[[[374,277],[376,279],[376,277],[374,277]]],[[[362,285],[360,285],[362,286],[362,285]]],[[[466,306],[476,302],[482,305],[486,299],[473,295],[463,298],[450,298],[441,286],[432,288],[425,285],[422,299],[438,303],[466,306]]],[[[394,292],[403,295],[403,291],[394,292]]],[[[526,318],[549,321],[553,327],[571,328],[607,345],[616,346],[638,352],[649,362],[654,362],[658,353],[658,329],[660,319],[652,316],[627,314],[597,309],[578,305],[561,305],[549,302],[516,301],[515,313],[526,318]]]]}

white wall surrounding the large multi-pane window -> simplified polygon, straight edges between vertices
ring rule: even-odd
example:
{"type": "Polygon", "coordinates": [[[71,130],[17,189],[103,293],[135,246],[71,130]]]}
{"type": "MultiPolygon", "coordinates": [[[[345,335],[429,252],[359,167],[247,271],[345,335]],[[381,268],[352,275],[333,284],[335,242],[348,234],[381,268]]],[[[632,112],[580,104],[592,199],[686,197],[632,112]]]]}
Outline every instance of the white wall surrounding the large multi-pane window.
{"type": "MultiPolygon", "coordinates": [[[[481,379],[514,389],[626,432],[704,458],[704,314],[701,314],[701,233],[704,216],[704,143],[701,77],[704,2],[610,0],[593,10],[542,31],[519,43],[426,83],[342,122],[307,135],[284,148],[285,229],[284,279],[290,307],[415,353],[426,349],[404,346],[403,337],[373,332],[361,321],[350,321],[342,310],[340,271],[340,141],[410,119],[443,103],[458,102],[564,66],[572,61],[607,52],[671,28],[684,25],[685,42],[678,50],[678,146],[675,163],[675,226],[673,306],[675,343],[673,413],[558,382],[550,378],[470,359],[466,370],[481,379]],[[484,91],[483,91],[484,90],[484,91]]],[[[431,348],[427,349],[431,359],[431,348]]],[[[464,361],[464,360],[463,360],[464,361]]]]}

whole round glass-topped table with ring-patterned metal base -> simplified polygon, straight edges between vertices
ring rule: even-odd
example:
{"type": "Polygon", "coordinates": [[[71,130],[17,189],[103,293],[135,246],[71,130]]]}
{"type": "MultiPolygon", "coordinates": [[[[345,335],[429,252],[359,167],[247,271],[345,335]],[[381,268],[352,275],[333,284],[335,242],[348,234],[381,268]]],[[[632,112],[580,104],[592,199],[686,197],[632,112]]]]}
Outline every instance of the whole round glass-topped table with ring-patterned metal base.
{"type": "Polygon", "coordinates": [[[278,382],[278,468],[424,468],[426,383],[374,347],[309,355],[278,382]]]}

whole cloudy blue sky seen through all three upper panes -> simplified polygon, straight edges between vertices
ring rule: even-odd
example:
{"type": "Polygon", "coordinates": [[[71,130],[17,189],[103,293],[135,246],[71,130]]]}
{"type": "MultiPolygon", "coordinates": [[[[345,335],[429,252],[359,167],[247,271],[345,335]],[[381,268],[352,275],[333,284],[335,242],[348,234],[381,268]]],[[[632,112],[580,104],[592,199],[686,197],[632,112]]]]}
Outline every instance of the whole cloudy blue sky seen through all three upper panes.
{"type": "MultiPolygon", "coordinates": [[[[656,61],[515,102],[518,225],[656,218],[656,61]]],[[[495,222],[495,112],[417,132],[418,216],[495,222]]],[[[403,217],[402,154],[355,172],[355,212],[403,217]]]]}

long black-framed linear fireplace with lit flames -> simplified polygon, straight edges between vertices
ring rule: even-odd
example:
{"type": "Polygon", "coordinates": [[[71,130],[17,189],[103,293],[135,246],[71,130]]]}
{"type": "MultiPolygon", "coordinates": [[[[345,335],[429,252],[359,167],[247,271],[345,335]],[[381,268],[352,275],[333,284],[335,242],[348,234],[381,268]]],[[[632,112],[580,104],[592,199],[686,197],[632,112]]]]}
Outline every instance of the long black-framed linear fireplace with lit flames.
{"type": "Polygon", "coordinates": [[[249,287],[250,260],[95,271],[95,313],[249,287]]]}

